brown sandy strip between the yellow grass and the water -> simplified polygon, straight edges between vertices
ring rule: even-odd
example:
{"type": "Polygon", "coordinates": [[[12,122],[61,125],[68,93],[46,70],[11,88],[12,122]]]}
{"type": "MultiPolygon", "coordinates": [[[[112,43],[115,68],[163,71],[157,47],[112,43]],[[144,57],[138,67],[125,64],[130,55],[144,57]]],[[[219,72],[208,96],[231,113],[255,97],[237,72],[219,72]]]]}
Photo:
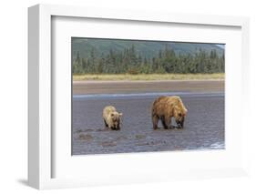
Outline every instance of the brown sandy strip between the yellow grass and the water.
{"type": "Polygon", "coordinates": [[[74,81],[73,95],[143,92],[223,92],[224,80],[74,81]]]}

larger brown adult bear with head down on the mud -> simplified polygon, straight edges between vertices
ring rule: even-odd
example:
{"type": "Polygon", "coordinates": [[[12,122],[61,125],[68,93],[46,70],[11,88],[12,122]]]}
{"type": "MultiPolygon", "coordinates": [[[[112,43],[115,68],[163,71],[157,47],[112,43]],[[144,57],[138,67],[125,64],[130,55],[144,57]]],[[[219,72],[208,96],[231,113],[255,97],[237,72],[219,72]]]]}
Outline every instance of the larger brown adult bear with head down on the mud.
{"type": "Polygon", "coordinates": [[[171,117],[175,117],[178,128],[183,128],[187,112],[180,97],[158,97],[152,106],[153,128],[158,128],[159,119],[164,128],[172,128],[171,117]]]}

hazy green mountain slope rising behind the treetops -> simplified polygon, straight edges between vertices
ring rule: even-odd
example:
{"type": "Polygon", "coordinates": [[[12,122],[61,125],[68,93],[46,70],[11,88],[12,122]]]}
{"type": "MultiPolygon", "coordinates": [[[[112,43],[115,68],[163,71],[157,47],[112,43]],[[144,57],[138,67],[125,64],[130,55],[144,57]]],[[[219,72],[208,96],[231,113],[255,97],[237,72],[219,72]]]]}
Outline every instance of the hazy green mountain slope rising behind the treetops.
{"type": "Polygon", "coordinates": [[[142,41],[142,40],[118,40],[118,39],[97,39],[97,38],[72,38],[73,58],[79,52],[80,57],[88,57],[92,50],[97,56],[107,55],[109,50],[122,52],[131,46],[142,57],[152,58],[159,55],[159,50],[163,50],[168,46],[172,48],[176,54],[194,55],[200,49],[210,53],[216,50],[219,56],[224,53],[224,45],[204,44],[204,43],[180,43],[180,42],[164,42],[164,41],[142,41]]]}

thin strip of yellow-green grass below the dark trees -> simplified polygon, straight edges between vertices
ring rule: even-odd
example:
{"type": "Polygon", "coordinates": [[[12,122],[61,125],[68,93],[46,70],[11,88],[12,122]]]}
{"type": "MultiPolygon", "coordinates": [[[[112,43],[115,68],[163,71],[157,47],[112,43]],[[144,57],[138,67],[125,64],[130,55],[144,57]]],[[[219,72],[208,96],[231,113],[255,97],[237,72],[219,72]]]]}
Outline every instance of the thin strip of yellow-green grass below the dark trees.
{"type": "Polygon", "coordinates": [[[193,80],[224,79],[225,74],[102,74],[73,75],[74,81],[83,80],[193,80]]]}

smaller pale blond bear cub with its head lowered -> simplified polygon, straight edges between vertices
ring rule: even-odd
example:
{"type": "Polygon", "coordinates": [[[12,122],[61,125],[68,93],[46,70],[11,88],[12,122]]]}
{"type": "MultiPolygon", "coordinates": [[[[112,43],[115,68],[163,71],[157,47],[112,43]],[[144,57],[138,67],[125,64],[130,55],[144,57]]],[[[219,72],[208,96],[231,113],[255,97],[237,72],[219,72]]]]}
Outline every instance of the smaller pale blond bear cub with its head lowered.
{"type": "Polygon", "coordinates": [[[119,130],[122,115],[123,115],[122,113],[118,113],[116,107],[113,107],[113,106],[105,107],[103,109],[103,114],[102,114],[105,126],[113,130],[119,130]]]}

